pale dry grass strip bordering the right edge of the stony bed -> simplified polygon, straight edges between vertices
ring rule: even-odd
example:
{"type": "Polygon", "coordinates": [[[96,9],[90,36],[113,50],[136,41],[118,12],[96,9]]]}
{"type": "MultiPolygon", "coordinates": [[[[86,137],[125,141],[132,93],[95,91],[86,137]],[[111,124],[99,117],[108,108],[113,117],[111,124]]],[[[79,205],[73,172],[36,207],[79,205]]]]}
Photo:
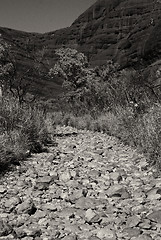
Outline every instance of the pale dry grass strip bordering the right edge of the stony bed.
{"type": "Polygon", "coordinates": [[[161,105],[154,104],[144,114],[132,107],[116,107],[93,117],[90,112],[75,116],[61,111],[53,113],[55,124],[100,131],[116,136],[125,144],[138,148],[151,164],[161,169],[161,105]]]}

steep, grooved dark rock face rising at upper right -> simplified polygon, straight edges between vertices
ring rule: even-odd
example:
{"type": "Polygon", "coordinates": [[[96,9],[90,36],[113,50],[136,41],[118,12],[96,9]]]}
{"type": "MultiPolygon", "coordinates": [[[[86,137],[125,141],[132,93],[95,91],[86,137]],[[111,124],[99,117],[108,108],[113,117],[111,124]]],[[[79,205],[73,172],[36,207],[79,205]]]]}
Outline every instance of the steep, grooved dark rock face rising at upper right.
{"type": "Polygon", "coordinates": [[[112,58],[129,66],[159,56],[160,16],[160,1],[98,0],[71,27],[44,34],[44,39],[50,48],[77,48],[94,65],[112,58]]]}

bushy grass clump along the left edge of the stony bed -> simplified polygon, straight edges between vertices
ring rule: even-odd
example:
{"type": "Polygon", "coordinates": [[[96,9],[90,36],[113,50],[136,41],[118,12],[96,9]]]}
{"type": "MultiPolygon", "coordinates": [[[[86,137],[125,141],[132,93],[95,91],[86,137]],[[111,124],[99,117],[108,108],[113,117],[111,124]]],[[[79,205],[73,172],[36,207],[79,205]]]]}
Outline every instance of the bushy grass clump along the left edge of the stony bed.
{"type": "Polygon", "coordinates": [[[49,114],[35,106],[20,105],[6,97],[0,103],[0,169],[31,152],[41,152],[51,142],[54,126],[49,114]]]}

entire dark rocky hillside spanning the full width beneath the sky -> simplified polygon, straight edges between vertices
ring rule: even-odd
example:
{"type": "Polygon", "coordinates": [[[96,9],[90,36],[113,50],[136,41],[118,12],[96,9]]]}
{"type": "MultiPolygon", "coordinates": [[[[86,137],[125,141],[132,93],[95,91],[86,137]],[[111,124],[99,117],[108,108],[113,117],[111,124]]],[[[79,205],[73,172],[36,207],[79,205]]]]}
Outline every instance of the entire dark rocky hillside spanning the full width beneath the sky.
{"type": "Polygon", "coordinates": [[[18,71],[33,68],[35,57],[41,59],[43,74],[34,69],[31,91],[48,97],[62,92],[62,82],[46,75],[56,61],[56,48],[74,47],[88,56],[91,65],[113,59],[122,67],[138,68],[160,59],[160,31],[159,0],[98,0],[70,27],[44,34],[0,28],[1,37],[12,46],[18,71]]]}

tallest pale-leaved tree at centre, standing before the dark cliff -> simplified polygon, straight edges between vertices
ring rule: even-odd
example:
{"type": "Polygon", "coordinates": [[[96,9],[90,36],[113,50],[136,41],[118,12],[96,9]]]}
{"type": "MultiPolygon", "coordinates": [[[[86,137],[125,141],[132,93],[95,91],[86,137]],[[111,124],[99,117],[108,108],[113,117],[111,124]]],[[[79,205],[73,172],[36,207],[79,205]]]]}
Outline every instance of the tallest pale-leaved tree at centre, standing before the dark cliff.
{"type": "Polygon", "coordinates": [[[88,67],[87,57],[70,48],[60,48],[55,53],[58,61],[50,69],[49,75],[63,78],[63,86],[70,91],[72,97],[82,97],[89,92],[97,74],[94,69],[88,67]]]}

